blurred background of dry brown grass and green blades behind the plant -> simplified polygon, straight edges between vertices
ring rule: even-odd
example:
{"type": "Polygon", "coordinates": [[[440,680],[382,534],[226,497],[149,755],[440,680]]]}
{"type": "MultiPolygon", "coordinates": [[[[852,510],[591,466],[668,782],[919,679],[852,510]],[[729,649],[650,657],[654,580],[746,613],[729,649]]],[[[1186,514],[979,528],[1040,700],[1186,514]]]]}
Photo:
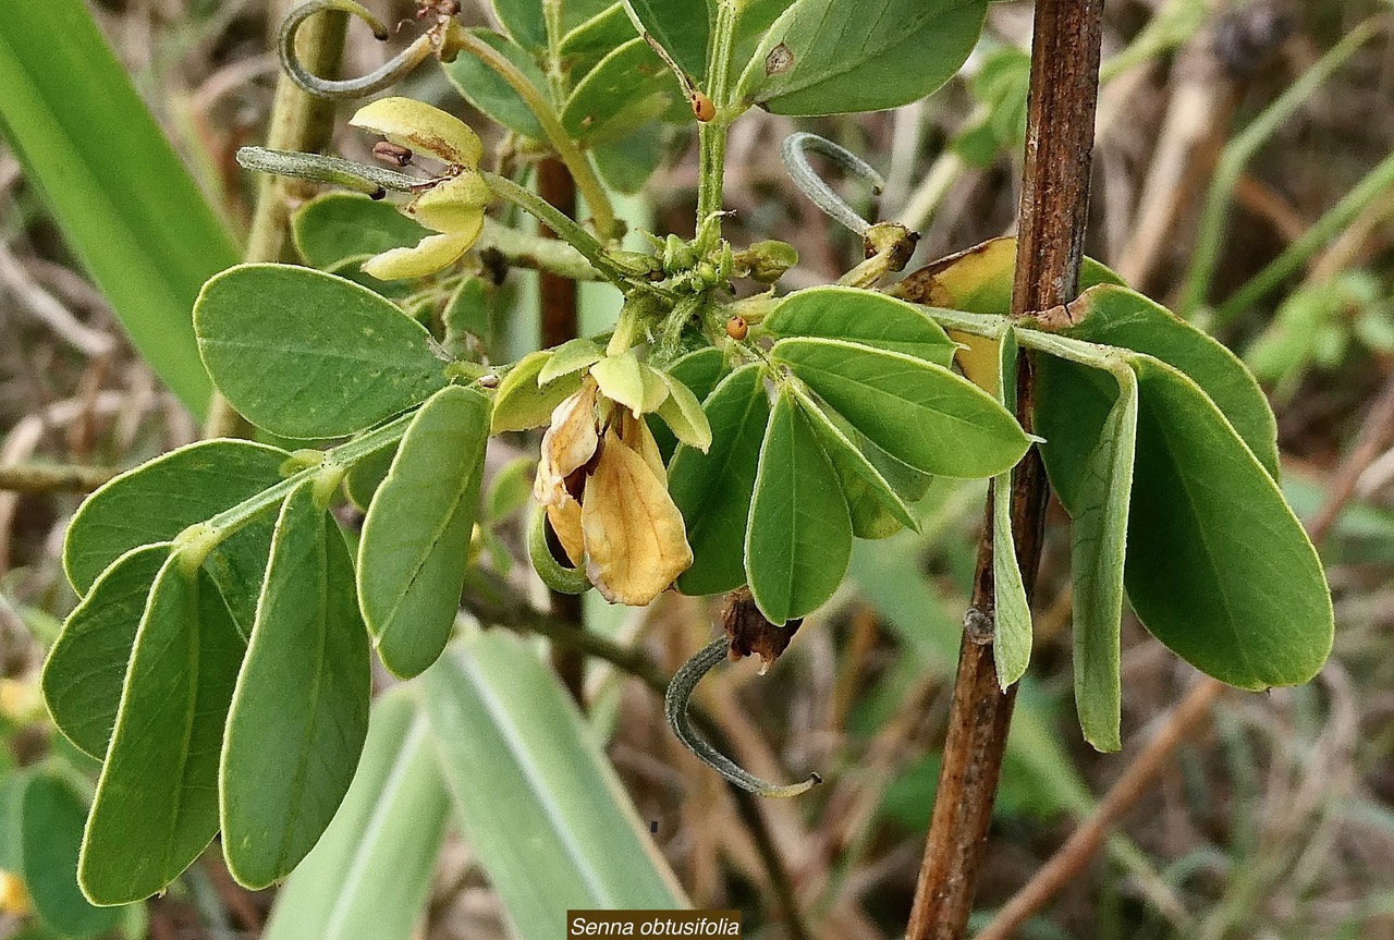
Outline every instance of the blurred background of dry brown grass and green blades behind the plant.
{"type": "MultiPolygon", "coordinates": [[[[255,180],[233,153],[263,139],[282,4],[88,7],[209,205],[241,237],[255,180]]],[[[487,21],[482,4],[466,7],[467,20],[487,21]]],[[[389,22],[414,13],[404,0],[374,8],[389,22]]],[[[1271,393],[1284,488],[1323,536],[1338,630],[1312,685],[1227,692],[1186,720],[1179,748],[1118,834],[1020,936],[1394,937],[1394,11],[1374,0],[1110,0],[1105,15],[1090,254],[1209,325],[1271,393]],[[1369,33],[1351,42],[1361,24],[1372,24],[1369,33]]],[[[785,276],[786,289],[827,283],[857,261],[855,237],[785,176],[778,142],[797,128],[841,142],[885,174],[878,201],[856,185],[846,195],[868,218],[923,233],[910,269],[1008,233],[1029,35],[1030,4],[998,3],[965,73],[927,102],[853,119],[742,119],[728,153],[726,206],[736,211],[728,237],[792,241],[802,262],[785,276]]],[[[350,29],[350,74],[382,56],[365,29],[350,29]]],[[[461,106],[439,70],[420,70],[400,92],[498,135],[461,106]]],[[[102,146],[117,153],[123,142],[102,146]]],[[[362,159],[367,142],[342,134],[336,148],[362,159]]],[[[686,237],[696,167],[696,135],[680,128],[620,213],[686,237]]],[[[160,177],[148,185],[162,185],[160,177]]],[[[100,477],[197,439],[197,421],[131,350],[47,205],[0,148],[0,476],[11,464],[52,463],[100,477]]],[[[488,346],[499,360],[534,347],[534,280],[513,272],[493,298],[488,346]]],[[[612,294],[581,291],[587,332],[613,317],[612,294]]],[[[828,781],[802,799],[761,806],[807,936],[903,932],[983,490],[937,483],[920,505],[923,533],[859,543],[843,589],[769,675],[742,662],[718,671],[700,695],[744,766],[779,780],[815,768],[828,781]]],[[[91,770],[46,722],[36,686],[45,649],[75,600],[59,554],[79,501],[77,492],[0,490],[4,773],[54,756],[78,780],[91,770]]],[[[1199,678],[1125,621],[1124,750],[1104,756],[1083,743],[1071,697],[1066,519],[1058,506],[1051,513],[1036,655],[976,923],[1051,858],[1199,678]]],[[[590,629],[643,649],[671,672],[707,642],[715,608],[669,594],[626,611],[591,594],[585,612],[590,629]]],[[[668,732],[661,702],[609,668],[590,671],[585,699],[590,732],[691,901],[742,908],[747,936],[793,936],[750,830],[715,774],[668,732]]],[[[13,851],[0,845],[0,869],[13,851]]],[[[259,936],[276,901],[276,891],[238,888],[216,852],[167,895],[99,923],[45,922],[6,886],[0,939],[259,936]]],[[[403,930],[442,940],[507,936],[499,893],[453,827],[428,886],[421,918],[403,930]]]]}

